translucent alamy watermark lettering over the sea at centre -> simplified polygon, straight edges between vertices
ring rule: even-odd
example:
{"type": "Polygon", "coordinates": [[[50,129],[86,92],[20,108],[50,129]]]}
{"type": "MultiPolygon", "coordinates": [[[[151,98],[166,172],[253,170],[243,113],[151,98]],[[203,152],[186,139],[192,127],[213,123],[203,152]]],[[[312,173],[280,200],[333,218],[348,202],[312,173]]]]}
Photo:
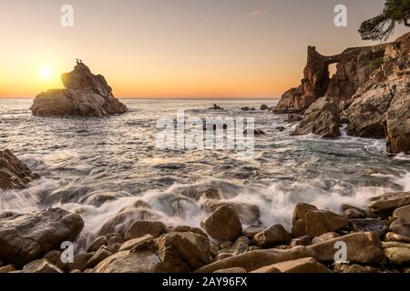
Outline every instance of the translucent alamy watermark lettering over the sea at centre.
{"type": "Polygon", "coordinates": [[[241,158],[254,153],[254,118],[186,118],[179,110],[176,118],[159,118],[157,129],[156,146],[161,150],[236,150],[241,158]]]}

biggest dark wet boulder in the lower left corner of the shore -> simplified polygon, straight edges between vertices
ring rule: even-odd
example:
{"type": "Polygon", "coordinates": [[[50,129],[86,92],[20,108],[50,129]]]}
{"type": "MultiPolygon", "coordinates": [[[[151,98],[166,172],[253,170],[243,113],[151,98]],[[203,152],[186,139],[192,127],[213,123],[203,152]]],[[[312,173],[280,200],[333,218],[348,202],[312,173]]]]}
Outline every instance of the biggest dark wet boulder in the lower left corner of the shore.
{"type": "Polygon", "coordinates": [[[83,226],[80,216],[61,208],[0,219],[0,259],[24,266],[65,241],[74,242],[83,226]]]}

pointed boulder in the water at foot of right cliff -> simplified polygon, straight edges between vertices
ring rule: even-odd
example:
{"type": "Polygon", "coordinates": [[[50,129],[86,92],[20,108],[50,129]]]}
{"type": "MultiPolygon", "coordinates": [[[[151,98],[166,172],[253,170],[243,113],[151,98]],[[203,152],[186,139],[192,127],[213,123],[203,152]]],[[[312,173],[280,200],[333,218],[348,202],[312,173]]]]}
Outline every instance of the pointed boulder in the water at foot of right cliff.
{"type": "Polygon", "coordinates": [[[292,135],[315,134],[333,138],[341,135],[341,125],[337,103],[330,97],[322,97],[305,111],[292,135]]]}

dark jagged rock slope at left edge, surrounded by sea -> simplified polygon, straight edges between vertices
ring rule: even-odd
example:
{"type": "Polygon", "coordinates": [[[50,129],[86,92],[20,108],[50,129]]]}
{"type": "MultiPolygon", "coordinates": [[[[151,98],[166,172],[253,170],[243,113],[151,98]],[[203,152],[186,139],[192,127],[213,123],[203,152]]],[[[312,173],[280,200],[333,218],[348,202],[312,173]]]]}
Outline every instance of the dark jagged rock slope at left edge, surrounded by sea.
{"type": "Polygon", "coordinates": [[[38,175],[31,172],[10,150],[0,151],[0,189],[21,189],[36,178],[38,175]]]}

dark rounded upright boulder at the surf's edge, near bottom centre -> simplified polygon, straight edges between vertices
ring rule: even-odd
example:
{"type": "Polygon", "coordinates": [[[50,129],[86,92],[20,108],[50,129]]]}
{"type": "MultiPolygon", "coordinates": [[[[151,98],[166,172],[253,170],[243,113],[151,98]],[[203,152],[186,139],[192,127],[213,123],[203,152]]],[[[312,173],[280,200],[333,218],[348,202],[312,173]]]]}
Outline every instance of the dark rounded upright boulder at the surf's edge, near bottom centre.
{"type": "Polygon", "coordinates": [[[235,241],[242,233],[240,218],[232,206],[220,206],[201,222],[201,227],[220,241],[235,241]]]}

